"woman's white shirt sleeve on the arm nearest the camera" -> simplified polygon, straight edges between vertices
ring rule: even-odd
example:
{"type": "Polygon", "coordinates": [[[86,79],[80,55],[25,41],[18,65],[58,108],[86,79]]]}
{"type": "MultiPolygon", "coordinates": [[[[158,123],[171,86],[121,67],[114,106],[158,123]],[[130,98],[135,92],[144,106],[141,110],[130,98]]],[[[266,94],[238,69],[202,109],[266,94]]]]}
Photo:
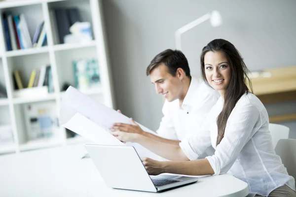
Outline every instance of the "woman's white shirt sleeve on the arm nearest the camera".
{"type": "Polygon", "coordinates": [[[225,132],[213,156],[206,157],[215,175],[226,173],[239,156],[243,147],[261,125],[260,112],[251,103],[234,107],[225,132]]]}

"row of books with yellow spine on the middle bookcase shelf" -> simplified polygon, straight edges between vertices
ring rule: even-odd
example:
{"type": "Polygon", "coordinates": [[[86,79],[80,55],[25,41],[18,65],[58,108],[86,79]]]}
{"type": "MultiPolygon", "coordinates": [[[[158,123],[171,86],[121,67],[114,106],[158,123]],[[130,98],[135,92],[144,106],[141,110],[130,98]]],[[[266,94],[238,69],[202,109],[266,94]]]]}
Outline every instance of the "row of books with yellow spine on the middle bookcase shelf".
{"type": "Polygon", "coordinates": [[[37,95],[47,95],[54,92],[50,65],[41,66],[40,69],[33,69],[27,87],[23,85],[20,70],[13,71],[13,81],[14,88],[17,90],[14,91],[14,97],[22,97],[33,91],[37,95]]]}

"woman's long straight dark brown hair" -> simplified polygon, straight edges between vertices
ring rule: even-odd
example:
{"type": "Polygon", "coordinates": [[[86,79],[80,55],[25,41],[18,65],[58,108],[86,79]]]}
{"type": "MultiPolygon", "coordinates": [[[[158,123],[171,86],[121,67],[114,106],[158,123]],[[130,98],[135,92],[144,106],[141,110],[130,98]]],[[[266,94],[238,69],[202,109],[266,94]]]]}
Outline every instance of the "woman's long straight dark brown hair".
{"type": "Polygon", "coordinates": [[[241,98],[241,96],[245,93],[253,92],[252,85],[250,79],[248,77],[248,68],[245,65],[243,58],[241,57],[238,50],[234,47],[233,44],[224,39],[215,39],[207,44],[202,49],[202,53],[200,56],[200,65],[201,65],[201,73],[204,81],[210,85],[207,81],[205,74],[205,63],[204,57],[205,54],[209,51],[212,52],[221,52],[226,59],[228,60],[231,72],[230,83],[225,89],[224,92],[224,104],[221,113],[217,118],[217,126],[218,126],[218,137],[217,137],[217,145],[220,144],[222,138],[224,137],[224,132],[226,128],[226,123],[228,117],[235,107],[237,101],[241,98]],[[250,89],[246,83],[250,84],[250,89]]]}

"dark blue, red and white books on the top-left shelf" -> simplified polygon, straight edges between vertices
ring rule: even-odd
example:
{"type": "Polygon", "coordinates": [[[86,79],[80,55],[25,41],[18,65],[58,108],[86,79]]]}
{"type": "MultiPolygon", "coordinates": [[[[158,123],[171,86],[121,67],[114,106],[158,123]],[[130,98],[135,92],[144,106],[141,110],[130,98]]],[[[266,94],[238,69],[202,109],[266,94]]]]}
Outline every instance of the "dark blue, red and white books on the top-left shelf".
{"type": "Polygon", "coordinates": [[[12,15],[11,12],[5,12],[3,27],[7,51],[41,47],[46,44],[44,21],[37,26],[33,39],[24,14],[12,15]]]}

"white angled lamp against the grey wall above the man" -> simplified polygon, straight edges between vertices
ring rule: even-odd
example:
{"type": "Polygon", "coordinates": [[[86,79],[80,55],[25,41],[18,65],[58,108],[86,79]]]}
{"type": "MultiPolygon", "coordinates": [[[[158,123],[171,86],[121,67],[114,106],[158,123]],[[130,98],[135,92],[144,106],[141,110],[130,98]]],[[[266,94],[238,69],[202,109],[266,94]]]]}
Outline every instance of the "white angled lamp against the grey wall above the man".
{"type": "Polygon", "coordinates": [[[181,45],[181,35],[182,33],[187,32],[188,30],[194,28],[195,26],[205,22],[206,20],[210,19],[212,27],[218,27],[222,25],[222,17],[219,11],[214,10],[212,12],[209,12],[198,19],[195,19],[194,21],[188,23],[187,25],[183,26],[182,28],[179,28],[175,33],[175,40],[176,40],[176,49],[182,50],[181,45]]]}

